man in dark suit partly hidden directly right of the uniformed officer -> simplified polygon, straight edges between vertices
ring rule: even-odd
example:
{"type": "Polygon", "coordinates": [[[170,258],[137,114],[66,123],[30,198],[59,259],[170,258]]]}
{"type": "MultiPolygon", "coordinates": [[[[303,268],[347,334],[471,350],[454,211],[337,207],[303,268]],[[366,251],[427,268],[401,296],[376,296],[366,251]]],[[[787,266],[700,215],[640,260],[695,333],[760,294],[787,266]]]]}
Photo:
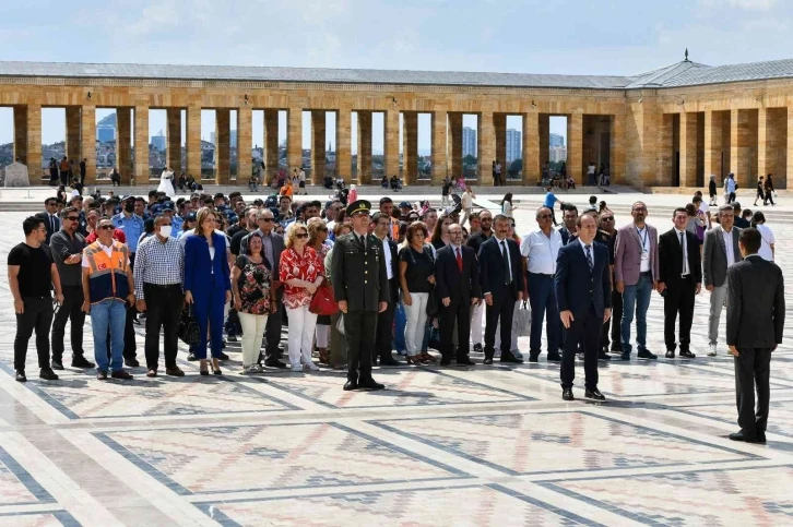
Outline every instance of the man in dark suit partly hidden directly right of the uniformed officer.
{"type": "MultiPolygon", "coordinates": [[[[386,205],[393,203],[387,203],[386,205]]],[[[380,200],[380,207],[383,201],[380,200]]],[[[371,348],[371,364],[377,366],[377,359],[380,359],[380,366],[402,366],[402,362],[395,360],[391,355],[391,343],[393,342],[393,316],[397,310],[397,300],[399,299],[399,276],[397,259],[397,243],[388,237],[392,224],[391,216],[384,212],[371,215],[371,223],[375,225],[374,235],[382,243],[382,256],[386,261],[386,275],[388,276],[389,302],[386,311],[377,314],[377,336],[375,337],[375,347],[371,348]]]]}

